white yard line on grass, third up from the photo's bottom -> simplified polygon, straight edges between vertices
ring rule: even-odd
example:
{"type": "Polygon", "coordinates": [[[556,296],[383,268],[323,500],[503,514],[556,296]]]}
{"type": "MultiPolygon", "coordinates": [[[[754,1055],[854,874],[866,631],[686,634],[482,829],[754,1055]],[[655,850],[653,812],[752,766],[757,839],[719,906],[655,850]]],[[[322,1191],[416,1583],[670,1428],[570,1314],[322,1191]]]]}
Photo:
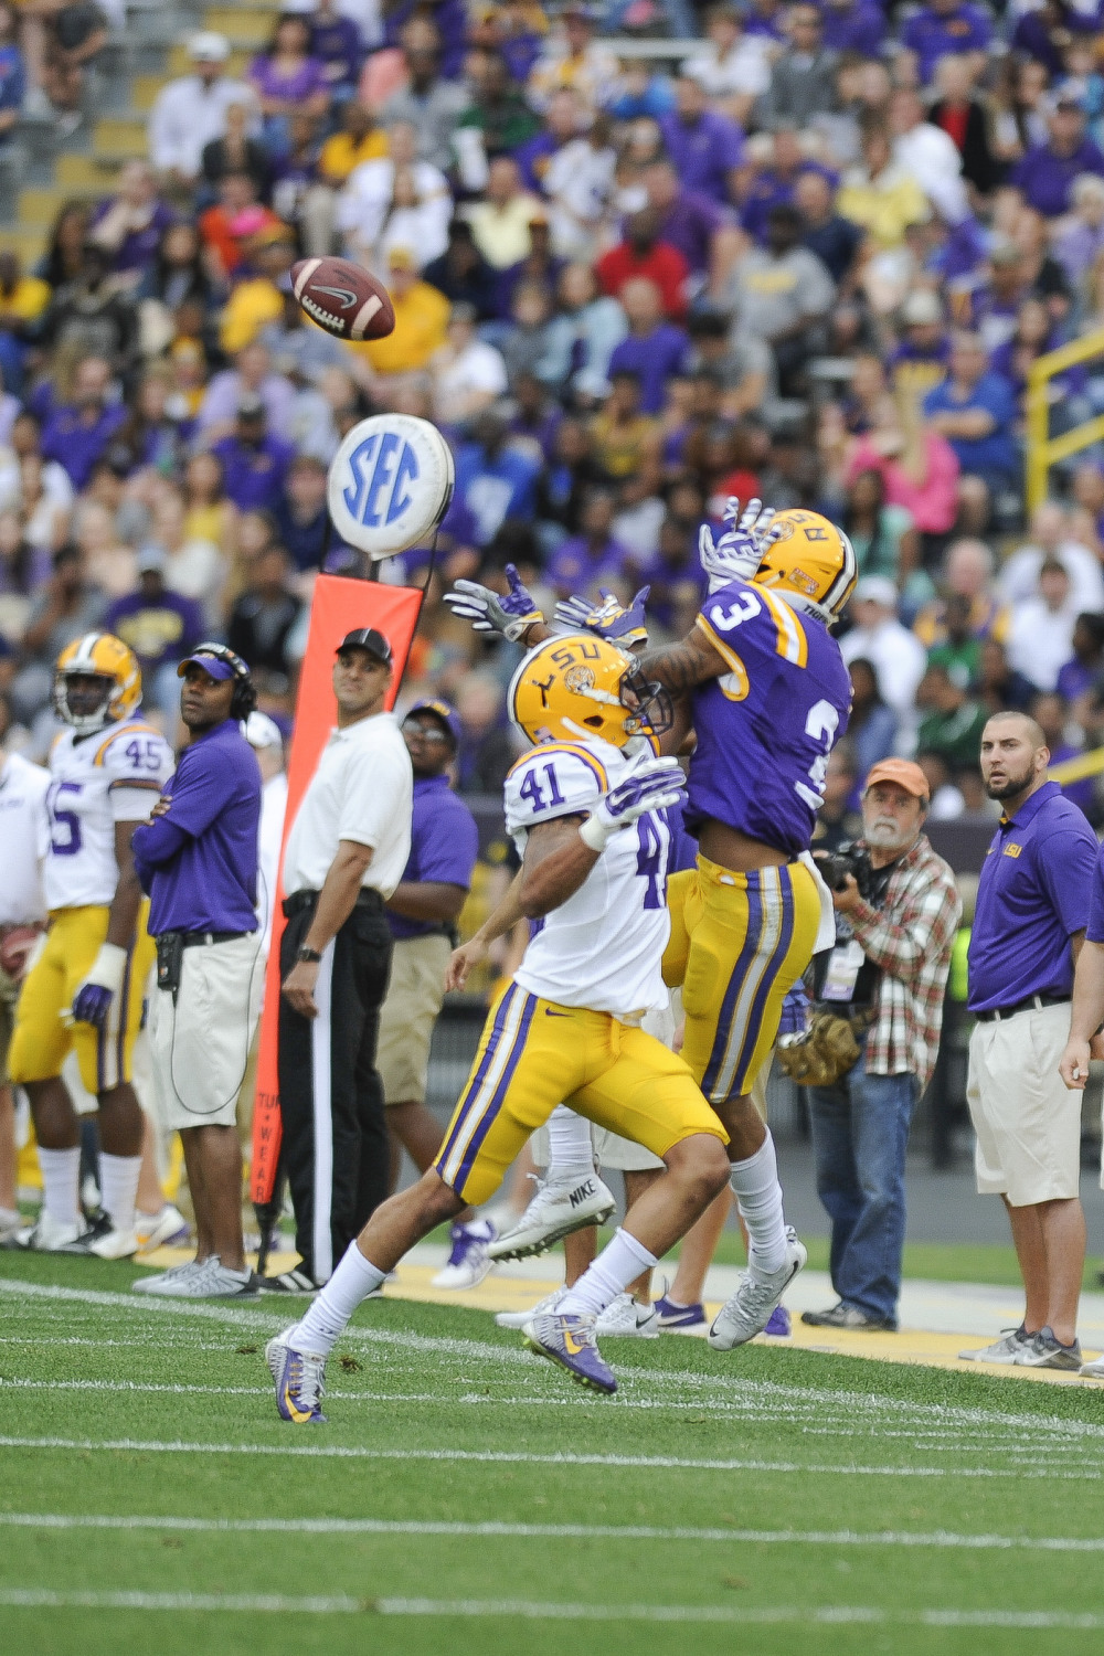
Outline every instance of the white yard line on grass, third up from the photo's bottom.
{"type": "Polygon", "coordinates": [[[1099,1482],[1097,1471],[1053,1471],[1049,1464],[1038,1471],[1015,1466],[1008,1469],[988,1466],[809,1466],[799,1461],[707,1461],[677,1456],[621,1456],[621,1454],[526,1454],[508,1449],[367,1449],[361,1444],[195,1444],[162,1442],[141,1437],[0,1437],[0,1449],[79,1449],[79,1451],[129,1451],[132,1454],[248,1454],[248,1456],[306,1456],[308,1459],[336,1461],[472,1461],[477,1464],[508,1466],[604,1466],[604,1467],[665,1467],[689,1472],[799,1472],[803,1475],[828,1474],[831,1477],[1021,1477],[1066,1482],[1099,1482]]]}

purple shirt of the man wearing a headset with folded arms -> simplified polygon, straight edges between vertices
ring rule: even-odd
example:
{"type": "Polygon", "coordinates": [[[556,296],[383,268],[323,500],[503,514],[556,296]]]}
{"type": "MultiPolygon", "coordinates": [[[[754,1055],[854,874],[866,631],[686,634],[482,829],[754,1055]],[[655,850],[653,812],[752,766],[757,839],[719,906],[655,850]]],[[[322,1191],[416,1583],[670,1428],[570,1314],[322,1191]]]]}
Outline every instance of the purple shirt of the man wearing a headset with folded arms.
{"type": "Polygon", "coordinates": [[[180,753],[166,816],[134,830],[149,931],[257,931],[260,768],[237,719],[180,753]]]}

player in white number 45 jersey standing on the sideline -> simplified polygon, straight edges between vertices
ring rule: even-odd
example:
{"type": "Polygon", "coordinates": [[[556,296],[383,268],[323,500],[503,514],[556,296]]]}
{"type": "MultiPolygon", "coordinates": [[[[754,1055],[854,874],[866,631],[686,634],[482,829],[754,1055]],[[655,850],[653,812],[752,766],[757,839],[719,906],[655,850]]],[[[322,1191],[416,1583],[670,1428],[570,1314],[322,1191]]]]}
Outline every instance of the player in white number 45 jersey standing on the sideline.
{"type": "Polygon", "coordinates": [[[43,1206],[17,1245],[126,1259],[137,1250],[134,1202],[142,1113],[131,1058],[154,962],[131,835],[174,768],[169,744],[137,717],[137,661],[111,633],[86,633],[58,656],[55,709],[70,725],[50,753],[50,929],[30,965],[12,1038],[12,1078],[26,1088],[43,1206]],[[61,1080],[70,1047],[99,1101],[99,1177],[108,1224],[79,1207],[79,1129],[61,1080]]]}

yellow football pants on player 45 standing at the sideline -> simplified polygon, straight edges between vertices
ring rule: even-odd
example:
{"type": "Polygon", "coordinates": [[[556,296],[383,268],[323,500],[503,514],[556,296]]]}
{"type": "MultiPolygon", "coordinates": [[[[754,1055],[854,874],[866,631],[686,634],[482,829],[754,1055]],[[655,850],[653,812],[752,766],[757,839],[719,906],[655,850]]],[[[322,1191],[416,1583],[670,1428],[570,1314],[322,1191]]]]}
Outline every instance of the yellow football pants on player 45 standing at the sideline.
{"type": "Polygon", "coordinates": [[[70,1047],[76,1048],[81,1081],[89,1093],[106,1093],[132,1078],[134,1042],[142,1027],[142,995],[154,964],[154,941],[146,931],[149,904],[137,916],[137,936],[127,954],[122,994],[111,1002],[108,1027],[66,1022],[73,995],[108,937],[108,909],[89,904],[56,909],[46,946],[23,980],[15,1009],[8,1068],[13,1081],[48,1081],[61,1073],[70,1047]]]}

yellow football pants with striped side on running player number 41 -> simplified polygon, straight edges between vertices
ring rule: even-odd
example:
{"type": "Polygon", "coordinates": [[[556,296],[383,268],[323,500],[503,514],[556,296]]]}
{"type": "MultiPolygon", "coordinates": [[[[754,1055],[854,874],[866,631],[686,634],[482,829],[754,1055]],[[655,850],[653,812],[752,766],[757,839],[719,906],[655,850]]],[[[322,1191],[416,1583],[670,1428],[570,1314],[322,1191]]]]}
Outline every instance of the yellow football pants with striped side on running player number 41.
{"type": "Polygon", "coordinates": [[[728,1141],[682,1058],[654,1035],[510,984],[487,1015],[435,1172],[465,1202],[485,1202],[559,1103],[655,1156],[695,1133],[728,1141]]]}

